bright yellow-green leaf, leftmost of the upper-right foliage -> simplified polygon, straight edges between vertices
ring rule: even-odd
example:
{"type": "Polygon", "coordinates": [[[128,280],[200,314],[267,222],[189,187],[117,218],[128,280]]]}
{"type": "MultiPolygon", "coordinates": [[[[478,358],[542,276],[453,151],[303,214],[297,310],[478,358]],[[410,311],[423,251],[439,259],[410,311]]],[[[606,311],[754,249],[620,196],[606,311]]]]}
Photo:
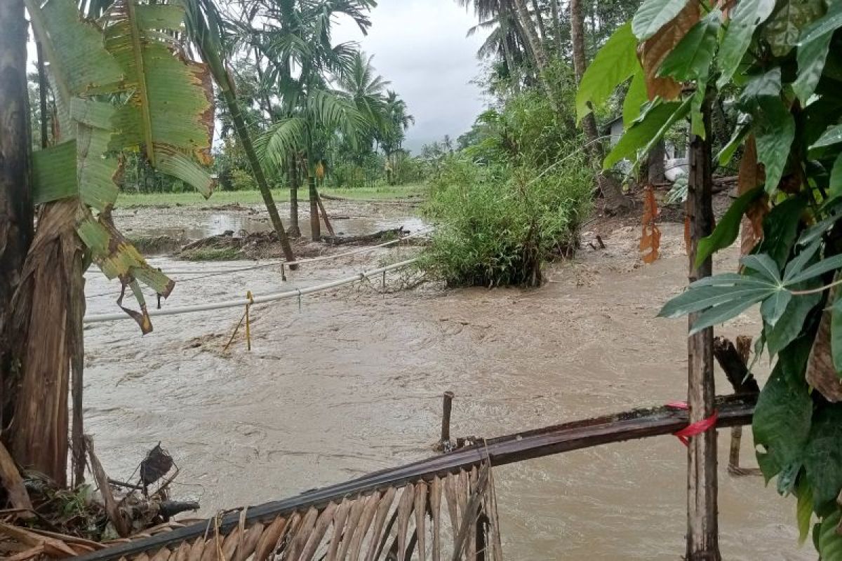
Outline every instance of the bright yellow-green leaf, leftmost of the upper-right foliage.
{"type": "MultiPolygon", "coordinates": [[[[589,103],[597,107],[604,104],[617,86],[638,71],[640,63],[636,47],[631,22],[621,25],[602,45],[579,82],[576,92],[577,120],[590,113],[589,103]]],[[[631,123],[631,120],[626,121],[626,125],[631,123]]]]}

